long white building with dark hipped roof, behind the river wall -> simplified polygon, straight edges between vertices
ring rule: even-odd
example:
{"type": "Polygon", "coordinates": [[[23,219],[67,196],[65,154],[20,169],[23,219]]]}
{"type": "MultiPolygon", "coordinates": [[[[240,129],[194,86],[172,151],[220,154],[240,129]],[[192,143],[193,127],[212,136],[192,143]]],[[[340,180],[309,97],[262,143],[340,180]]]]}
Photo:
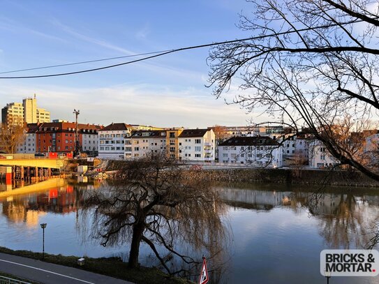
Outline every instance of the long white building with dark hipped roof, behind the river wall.
{"type": "Polygon", "coordinates": [[[218,146],[218,162],[281,167],[281,146],[268,136],[232,137],[218,146]]]}

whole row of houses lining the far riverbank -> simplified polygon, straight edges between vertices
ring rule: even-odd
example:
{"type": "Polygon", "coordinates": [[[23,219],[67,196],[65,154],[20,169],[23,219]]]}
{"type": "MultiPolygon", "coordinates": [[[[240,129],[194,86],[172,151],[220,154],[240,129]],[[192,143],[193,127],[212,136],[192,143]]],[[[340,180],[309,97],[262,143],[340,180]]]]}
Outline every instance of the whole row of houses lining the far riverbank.
{"type": "MultiPolygon", "coordinates": [[[[75,150],[76,124],[67,121],[28,124],[17,153],[70,153],[75,150]]],[[[156,128],[112,123],[108,126],[78,124],[81,151],[99,158],[134,159],[165,151],[172,158],[196,163],[283,167],[329,167],[337,161],[326,147],[309,135],[291,135],[280,127],[156,128]]],[[[378,141],[366,138],[366,148],[378,141]]]]}

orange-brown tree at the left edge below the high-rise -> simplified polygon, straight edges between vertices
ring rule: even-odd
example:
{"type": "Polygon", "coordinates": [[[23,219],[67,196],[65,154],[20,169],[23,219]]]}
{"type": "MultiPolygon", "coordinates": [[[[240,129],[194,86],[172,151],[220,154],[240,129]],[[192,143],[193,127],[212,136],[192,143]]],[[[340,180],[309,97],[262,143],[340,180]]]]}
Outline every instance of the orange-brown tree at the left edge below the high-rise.
{"type": "Polygon", "coordinates": [[[5,153],[15,153],[22,142],[25,127],[22,124],[1,124],[0,147],[5,153]]]}

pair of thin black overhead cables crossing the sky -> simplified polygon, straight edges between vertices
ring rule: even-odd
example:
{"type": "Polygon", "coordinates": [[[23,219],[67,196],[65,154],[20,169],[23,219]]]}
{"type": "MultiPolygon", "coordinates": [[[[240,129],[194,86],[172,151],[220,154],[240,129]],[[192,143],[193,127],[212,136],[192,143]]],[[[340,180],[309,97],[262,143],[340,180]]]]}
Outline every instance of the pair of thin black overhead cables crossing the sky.
{"type": "MultiPolygon", "coordinates": [[[[142,55],[147,55],[147,54],[154,54],[154,55],[151,55],[149,57],[143,57],[141,59],[135,59],[135,60],[132,60],[132,61],[126,61],[126,62],[117,63],[117,64],[113,64],[113,65],[109,65],[109,66],[103,66],[103,67],[98,67],[98,68],[91,68],[91,69],[86,69],[86,70],[79,70],[79,71],[73,71],[73,72],[67,72],[67,73],[34,75],[34,76],[0,77],[0,79],[31,79],[31,78],[57,77],[57,76],[64,76],[64,75],[74,75],[74,74],[80,74],[80,73],[88,73],[88,72],[93,72],[93,71],[97,71],[97,70],[103,70],[103,69],[108,69],[108,68],[113,68],[113,67],[117,67],[117,66],[123,66],[123,65],[131,64],[131,63],[136,63],[136,62],[144,61],[144,60],[147,60],[147,59],[152,59],[154,57],[161,57],[163,55],[170,54],[170,53],[173,53],[173,52],[180,52],[180,51],[184,51],[184,50],[193,50],[193,49],[202,48],[202,47],[211,47],[211,46],[214,46],[214,45],[224,45],[224,44],[228,44],[228,43],[237,43],[237,42],[246,41],[246,40],[258,40],[258,39],[269,38],[269,37],[273,37],[273,36],[283,36],[284,34],[288,34],[288,33],[299,33],[301,31],[310,31],[310,30],[314,30],[314,29],[326,29],[326,28],[329,28],[329,27],[341,26],[341,24],[343,24],[343,25],[345,25],[345,24],[355,24],[355,23],[358,23],[358,22],[363,22],[363,20],[352,20],[350,22],[345,22],[345,23],[327,24],[327,25],[318,26],[318,27],[307,27],[307,28],[304,28],[304,29],[297,29],[297,30],[293,30],[293,31],[282,31],[280,33],[271,33],[271,34],[262,35],[262,36],[253,36],[253,37],[250,37],[250,38],[240,38],[240,39],[236,39],[236,40],[226,40],[226,41],[216,42],[216,43],[207,43],[205,45],[194,45],[194,46],[190,46],[190,47],[181,47],[181,48],[174,49],[174,50],[163,50],[162,52],[148,52],[148,53],[144,53],[144,54],[133,54],[133,55],[125,56],[125,57],[137,57],[137,56],[142,56],[142,55]]],[[[77,64],[82,64],[82,63],[91,63],[91,62],[96,62],[96,61],[106,61],[106,60],[117,59],[117,58],[125,58],[125,57],[111,57],[111,58],[107,58],[107,59],[97,59],[97,60],[82,61],[82,62],[76,62],[76,63],[66,63],[66,64],[60,64],[60,65],[55,65],[55,66],[45,66],[45,67],[29,68],[29,69],[22,69],[22,70],[13,70],[13,71],[8,71],[8,72],[3,72],[3,73],[0,73],[0,74],[15,73],[15,72],[21,72],[21,71],[24,71],[24,70],[37,70],[37,69],[44,69],[44,68],[54,68],[54,67],[61,67],[61,66],[70,66],[70,65],[77,65],[77,64]]]]}

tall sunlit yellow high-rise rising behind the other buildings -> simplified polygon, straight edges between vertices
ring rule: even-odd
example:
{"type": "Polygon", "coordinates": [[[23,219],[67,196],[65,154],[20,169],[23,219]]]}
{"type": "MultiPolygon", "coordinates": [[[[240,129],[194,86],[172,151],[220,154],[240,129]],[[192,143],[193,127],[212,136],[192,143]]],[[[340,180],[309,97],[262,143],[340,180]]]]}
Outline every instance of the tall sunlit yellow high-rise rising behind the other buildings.
{"type": "Polygon", "coordinates": [[[37,107],[37,99],[34,95],[34,98],[24,98],[22,103],[8,103],[1,110],[1,121],[8,125],[50,122],[50,112],[37,107]]]}

